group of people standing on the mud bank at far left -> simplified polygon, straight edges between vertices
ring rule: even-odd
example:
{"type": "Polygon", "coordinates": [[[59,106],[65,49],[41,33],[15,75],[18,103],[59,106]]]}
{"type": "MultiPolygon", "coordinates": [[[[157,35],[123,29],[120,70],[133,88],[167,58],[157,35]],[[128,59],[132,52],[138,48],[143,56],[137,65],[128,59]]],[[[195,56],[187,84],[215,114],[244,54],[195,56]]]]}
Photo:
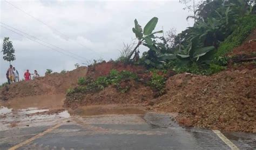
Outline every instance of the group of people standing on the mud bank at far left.
{"type": "MultiPolygon", "coordinates": [[[[36,70],[34,71],[34,73],[32,75],[33,75],[32,79],[40,77],[36,70]]],[[[12,65],[10,65],[9,69],[6,72],[6,78],[8,80],[8,84],[18,82],[19,81],[19,72],[15,69],[15,67],[12,67],[12,65]]],[[[24,79],[25,79],[25,81],[31,80],[31,73],[29,72],[28,69],[24,73],[24,79]]]]}

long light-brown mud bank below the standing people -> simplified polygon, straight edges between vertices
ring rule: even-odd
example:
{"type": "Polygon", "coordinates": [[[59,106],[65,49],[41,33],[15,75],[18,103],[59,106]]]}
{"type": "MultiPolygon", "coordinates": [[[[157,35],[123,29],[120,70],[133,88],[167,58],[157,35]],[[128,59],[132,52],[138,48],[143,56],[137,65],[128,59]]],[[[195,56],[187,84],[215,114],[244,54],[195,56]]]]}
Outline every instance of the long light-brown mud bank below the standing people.
{"type": "Polygon", "coordinates": [[[0,100],[65,93],[69,87],[77,84],[79,77],[86,76],[86,71],[87,67],[79,67],[66,73],[51,73],[45,77],[5,86],[0,89],[0,100]]]}

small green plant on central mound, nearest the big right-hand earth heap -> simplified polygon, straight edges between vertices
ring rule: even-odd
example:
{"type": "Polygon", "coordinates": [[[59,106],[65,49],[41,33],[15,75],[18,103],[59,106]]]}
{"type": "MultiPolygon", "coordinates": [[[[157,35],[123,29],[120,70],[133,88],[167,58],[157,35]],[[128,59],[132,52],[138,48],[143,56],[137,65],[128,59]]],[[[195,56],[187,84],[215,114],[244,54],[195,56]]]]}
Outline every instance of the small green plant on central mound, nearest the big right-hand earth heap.
{"type": "Polygon", "coordinates": [[[158,95],[162,95],[165,92],[165,77],[158,74],[157,72],[152,72],[152,78],[150,80],[150,86],[158,91],[158,95]]]}

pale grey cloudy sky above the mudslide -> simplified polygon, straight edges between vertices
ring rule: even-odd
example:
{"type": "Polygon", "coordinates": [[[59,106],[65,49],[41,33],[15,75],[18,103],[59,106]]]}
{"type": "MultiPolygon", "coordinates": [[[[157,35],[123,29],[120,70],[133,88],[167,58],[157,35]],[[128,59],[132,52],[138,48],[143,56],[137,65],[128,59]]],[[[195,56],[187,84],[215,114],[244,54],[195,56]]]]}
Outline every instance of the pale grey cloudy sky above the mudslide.
{"type": "MultiPolygon", "coordinates": [[[[180,32],[192,25],[186,21],[190,12],[183,10],[184,5],[178,0],[2,0],[0,5],[1,45],[4,37],[10,37],[16,50],[12,64],[21,75],[26,69],[38,70],[43,75],[46,69],[60,72],[92,59],[116,59],[123,43],[130,43],[134,38],[135,18],[145,26],[152,17],[158,17],[156,30],[163,26],[164,31],[176,28],[180,32]]],[[[1,53],[0,83],[6,81],[9,65],[2,57],[1,53]]]]}

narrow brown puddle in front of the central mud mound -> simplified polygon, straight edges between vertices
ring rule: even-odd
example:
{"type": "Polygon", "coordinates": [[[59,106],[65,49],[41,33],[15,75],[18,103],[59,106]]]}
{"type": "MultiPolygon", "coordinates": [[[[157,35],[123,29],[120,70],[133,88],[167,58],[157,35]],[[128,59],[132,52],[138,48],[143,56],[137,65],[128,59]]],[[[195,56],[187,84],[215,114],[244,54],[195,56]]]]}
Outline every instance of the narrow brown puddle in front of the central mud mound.
{"type": "Polygon", "coordinates": [[[90,116],[90,115],[104,115],[104,114],[145,114],[146,111],[137,107],[117,107],[114,105],[96,105],[79,107],[71,114],[90,116]]]}

